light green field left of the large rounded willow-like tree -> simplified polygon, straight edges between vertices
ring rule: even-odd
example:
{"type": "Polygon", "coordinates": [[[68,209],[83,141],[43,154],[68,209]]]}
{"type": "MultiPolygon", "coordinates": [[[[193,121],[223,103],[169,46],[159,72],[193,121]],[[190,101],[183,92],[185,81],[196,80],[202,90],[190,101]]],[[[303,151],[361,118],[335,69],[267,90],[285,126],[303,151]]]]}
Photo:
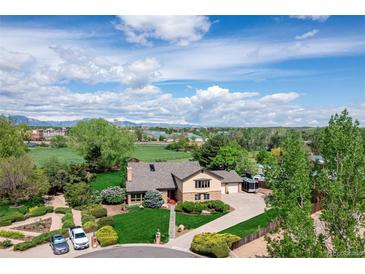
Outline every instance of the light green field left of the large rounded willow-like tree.
{"type": "Polygon", "coordinates": [[[35,147],[30,148],[30,156],[38,166],[42,166],[47,159],[57,157],[65,163],[75,162],[83,163],[84,159],[70,148],[52,148],[52,147],[35,147]]]}

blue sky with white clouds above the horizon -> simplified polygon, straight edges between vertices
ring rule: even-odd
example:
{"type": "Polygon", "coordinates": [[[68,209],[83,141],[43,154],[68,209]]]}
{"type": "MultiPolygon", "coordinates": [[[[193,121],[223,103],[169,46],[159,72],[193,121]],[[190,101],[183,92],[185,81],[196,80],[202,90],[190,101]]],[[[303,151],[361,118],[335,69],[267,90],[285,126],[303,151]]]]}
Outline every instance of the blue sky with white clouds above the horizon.
{"type": "Polygon", "coordinates": [[[2,16],[0,112],[206,126],[365,124],[364,16],[2,16]]]}

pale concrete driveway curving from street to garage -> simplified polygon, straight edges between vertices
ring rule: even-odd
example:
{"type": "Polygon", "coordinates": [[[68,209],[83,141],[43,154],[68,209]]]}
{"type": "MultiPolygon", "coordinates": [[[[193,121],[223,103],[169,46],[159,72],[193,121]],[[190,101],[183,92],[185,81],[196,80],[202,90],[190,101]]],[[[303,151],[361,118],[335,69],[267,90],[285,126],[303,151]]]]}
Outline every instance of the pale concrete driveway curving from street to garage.
{"type": "Polygon", "coordinates": [[[165,246],[180,250],[189,250],[191,242],[196,234],[202,232],[219,232],[263,213],[265,210],[264,197],[265,196],[260,193],[253,194],[240,192],[222,194],[222,200],[233,207],[235,209],[234,211],[191,230],[176,239],[170,240],[165,246]]]}

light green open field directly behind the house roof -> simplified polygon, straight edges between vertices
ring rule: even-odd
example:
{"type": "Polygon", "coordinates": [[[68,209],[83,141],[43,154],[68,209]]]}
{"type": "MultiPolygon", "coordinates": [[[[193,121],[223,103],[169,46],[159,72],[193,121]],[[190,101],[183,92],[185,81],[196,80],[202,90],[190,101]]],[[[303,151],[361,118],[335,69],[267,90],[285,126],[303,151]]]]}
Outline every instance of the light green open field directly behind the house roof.
{"type": "Polygon", "coordinates": [[[165,149],[165,145],[136,145],[131,157],[142,162],[188,160],[189,152],[180,152],[165,149]]]}

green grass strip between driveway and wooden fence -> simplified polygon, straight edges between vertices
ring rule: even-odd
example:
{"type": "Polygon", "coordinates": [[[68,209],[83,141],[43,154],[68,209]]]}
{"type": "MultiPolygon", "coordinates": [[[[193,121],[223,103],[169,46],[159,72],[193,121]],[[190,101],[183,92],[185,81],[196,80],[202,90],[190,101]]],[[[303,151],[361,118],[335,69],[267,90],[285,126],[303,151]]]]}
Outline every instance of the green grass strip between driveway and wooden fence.
{"type": "Polygon", "coordinates": [[[266,227],[273,219],[273,217],[273,214],[265,212],[242,223],[220,231],[219,233],[231,233],[233,235],[237,235],[243,238],[248,234],[255,232],[256,230],[266,227]]]}

